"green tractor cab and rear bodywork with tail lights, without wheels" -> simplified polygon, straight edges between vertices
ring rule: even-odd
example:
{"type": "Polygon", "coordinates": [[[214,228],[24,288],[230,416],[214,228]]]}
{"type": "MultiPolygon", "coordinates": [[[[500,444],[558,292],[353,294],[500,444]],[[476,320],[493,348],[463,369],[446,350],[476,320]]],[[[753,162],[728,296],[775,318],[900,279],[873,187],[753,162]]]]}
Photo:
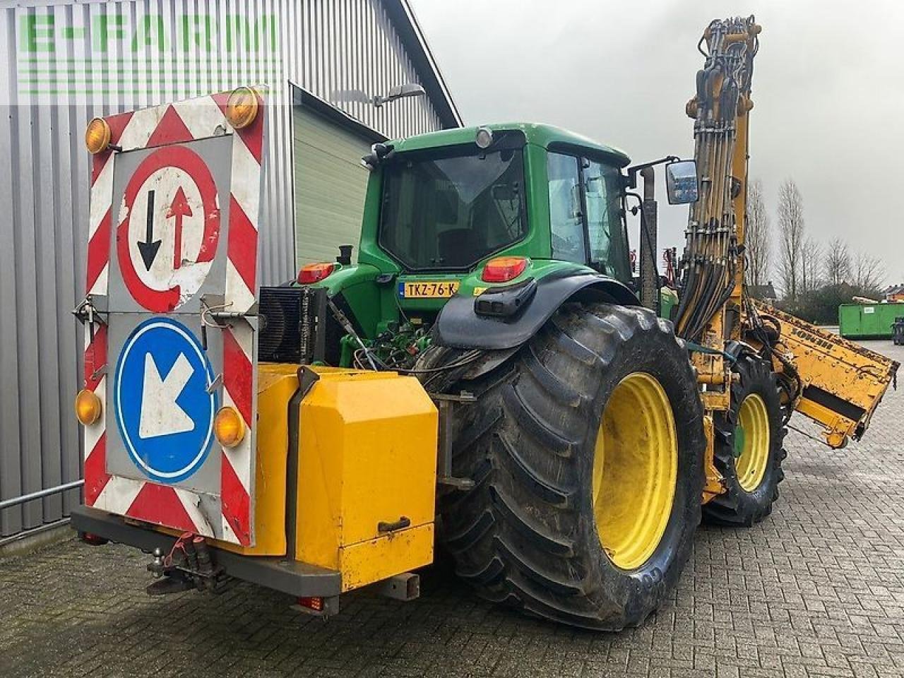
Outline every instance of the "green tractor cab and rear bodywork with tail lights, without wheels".
{"type": "Polygon", "coordinates": [[[357,264],[311,264],[299,274],[344,316],[312,306],[324,308],[326,334],[336,338],[312,360],[355,366],[366,346],[387,367],[410,367],[453,298],[513,321],[560,278],[637,303],[620,151],[518,123],[378,144],[363,164],[371,177],[357,264]],[[346,322],[358,336],[344,332],[346,322]]]}

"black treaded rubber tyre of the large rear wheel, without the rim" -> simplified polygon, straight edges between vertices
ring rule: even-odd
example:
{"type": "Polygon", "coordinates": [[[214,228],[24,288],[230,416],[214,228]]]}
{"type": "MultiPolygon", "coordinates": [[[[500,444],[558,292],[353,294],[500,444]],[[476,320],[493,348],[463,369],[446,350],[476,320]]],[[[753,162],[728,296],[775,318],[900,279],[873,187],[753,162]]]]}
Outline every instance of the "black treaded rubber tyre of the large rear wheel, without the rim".
{"type": "MultiPolygon", "coordinates": [[[[476,485],[442,501],[440,541],[457,574],[483,598],[571,626],[618,630],[642,623],[673,587],[690,543],[676,555],[677,571],[667,574],[662,590],[626,607],[624,601],[600,603],[599,575],[576,541],[588,520],[577,505],[577,453],[597,395],[594,375],[628,339],[646,333],[663,335],[659,341],[683,355],[671,324],[648,311],[569,304],[517,353],[514,368],[496,368],[504,378],[490,372],[476,383],[457,384],[480,394],[461,409],[452,446],[453,475],[476,485]]],[[[689,363],[686,369],[682,376],[692,382],[689,363]]],[[[694,402],[701,407],[699,399],[694,402]]],[[[697,414],[702,456],[702,410],[697,414]]],[[[701,464],[700,477],[692,478],[698,497],[702,483],[701,464]]],[[[699,504],[695,512],[694,526],[699,504]]]]}

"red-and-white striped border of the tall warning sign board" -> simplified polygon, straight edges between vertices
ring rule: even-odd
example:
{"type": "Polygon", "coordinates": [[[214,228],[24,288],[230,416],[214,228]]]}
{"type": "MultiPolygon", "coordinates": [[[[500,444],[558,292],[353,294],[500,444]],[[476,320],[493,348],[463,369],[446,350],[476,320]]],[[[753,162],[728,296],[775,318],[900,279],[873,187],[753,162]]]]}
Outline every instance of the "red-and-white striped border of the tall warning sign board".
{"type": "MultiPolygon", "coordinates": [[[[92,160],[86,283],[95,306],[108,309],[108,313],[107,324],[86,323],[85,327],[85,387],[94,391],[105,404],[98,421],[84,428],[85,503],[110,513],[242,546],[254,544],[257,350],[254,318],[247,314],[254,307],[258,291],[261,166],[267,118],[266,89],[255,90],[259,97],[259,114],[249,127],[242,129],[231,127],[225,116],[230,92],[104,118],[110,128],[112,147],[92,160]],[[179,317],[194,334],[200,335],[204,321],[194,308],[199,295],[195,295],[191,305],[181,307],[178,302],[172,304],[172,294],[165,296],[167,303],[161,303],[163,297],[159,294],[148,295],[155,299],[146,298],[147,304],[124,312],[108,307],[108,293],[111,274],[119,278],[117,285],[127,285],[119,274],[120,267],[111,266],[114,264],[112,257],[117,260],[122,257],[119,250],[122,245],[118,242],[122,221],[115,214],[119,206],[113,204],[118,156],[131,151],[151,151],[153,155],[157,148],[179,155],[182,152],[173,149],[221,137],[231,140],[229,190],[226,192],[221,188],[218,191],[221,220],[218,241],[212,251],[199,251],[196,259],[212,258],[208,278],[221,267],[221,283],[217,285],[221,289],[219,301],[230,319],[219,323],[219,327],[208,328],[205,348],[211,352],[214,372],[219,372],[212,388],[220,390],[222,405],[239,411],[246,425],[246,435],[239,445],[228,449],[214,443],[209,457],[218,453],[216,466],[211,467],[216,468],[219,486],[217,492],[210,492],[191,483],[156,483],[142,476],[137,467],[134,473],[123,473],[119,470],[121,459],[108,458],[109,454],[118,455],[123,450],[118,430],[115,426],[108,429],[107,421],[107,413],[111,411],[108,391],[112,391],[108,389],[108,380],[113,378],[110,363],[115,364],[118,357],[111,350],[118,351],[121,335],[127,334],[126,325],[154,317],[155,313],[179,317]],[[182,313],[173,315],[175,310],[182,313]],[[192,317],[190,314],[194,315],[192,323],[187,322],[192,317]],[[108,345],[111,340],[116,347],[108,345]]],[[[215,171],[212,174],[216,176],[215,171]]],[[[127,247],[127,238],[123,240],[127,247]]],[[[134,266],[128,251],[125,254],[129,267],[134,266]]],[[[146,287],[144,283],[142,286],[146,287]]],[[[140,288],[133,287],[139,289],[141,296],[140,288]]],[[[129,289],[131,291],[132,287],[129,289]]],[[[205,460],[204,464],[209,461],[205,460]]]]}

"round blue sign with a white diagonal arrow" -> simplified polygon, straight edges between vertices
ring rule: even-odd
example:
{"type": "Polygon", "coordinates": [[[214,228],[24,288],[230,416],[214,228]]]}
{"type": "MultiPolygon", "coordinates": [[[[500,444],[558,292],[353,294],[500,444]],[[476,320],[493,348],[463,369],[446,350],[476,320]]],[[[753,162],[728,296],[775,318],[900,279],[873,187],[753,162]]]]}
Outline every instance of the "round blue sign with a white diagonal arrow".
{"type": "Polygon", "coordinates": [[[155,317],[129,334],[116,365],[113,408],[128,456],[151,479],[177,483],[210,452],[216,390],[213,370],[192,332],[155,317]]]}

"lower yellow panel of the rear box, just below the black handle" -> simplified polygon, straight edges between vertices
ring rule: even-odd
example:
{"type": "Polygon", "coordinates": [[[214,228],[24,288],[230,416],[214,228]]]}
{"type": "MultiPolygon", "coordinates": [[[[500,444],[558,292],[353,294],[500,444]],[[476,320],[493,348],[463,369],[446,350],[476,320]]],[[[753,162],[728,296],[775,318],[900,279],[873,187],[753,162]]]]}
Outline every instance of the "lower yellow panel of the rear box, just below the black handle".
{"type": "Polygon", "coordinates": [[[433,562],[433,523],[360,541],[339,551],[342,589],[357,589],[433,562]]]}

